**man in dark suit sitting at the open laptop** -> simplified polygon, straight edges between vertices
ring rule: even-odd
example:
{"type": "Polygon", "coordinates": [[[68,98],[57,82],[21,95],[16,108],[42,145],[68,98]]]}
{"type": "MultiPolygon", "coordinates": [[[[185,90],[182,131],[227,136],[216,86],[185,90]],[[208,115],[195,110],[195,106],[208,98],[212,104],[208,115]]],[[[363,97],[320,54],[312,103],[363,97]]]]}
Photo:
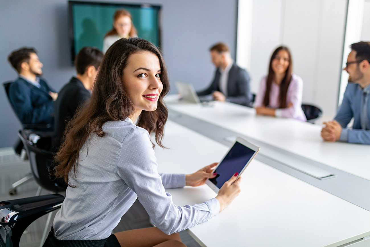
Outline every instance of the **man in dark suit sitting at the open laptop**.
{"type": "Polygon", "coordinates": [[[218,43],[209,51],[212,63],[216,66],[215,77],[207,89],[197,92],[198,96],[212,94],[214,100],[252,106],[250,76],[234,63],[228,46],[218,43]]]}

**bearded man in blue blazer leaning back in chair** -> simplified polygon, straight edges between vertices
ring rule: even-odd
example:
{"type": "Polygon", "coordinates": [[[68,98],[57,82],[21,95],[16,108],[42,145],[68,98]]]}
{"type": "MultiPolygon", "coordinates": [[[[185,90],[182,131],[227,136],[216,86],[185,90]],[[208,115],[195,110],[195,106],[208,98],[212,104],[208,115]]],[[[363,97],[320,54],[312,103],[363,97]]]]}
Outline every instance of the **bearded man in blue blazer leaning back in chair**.
{"type": "Polygon", "coordinates": [[[48,86],[42,75],[43,64],[31,47],[13,51],[8,60],[19,77],[9,87],[11,106],[22,124],[52,124],[54,101],[58,94],[48,86]]]}

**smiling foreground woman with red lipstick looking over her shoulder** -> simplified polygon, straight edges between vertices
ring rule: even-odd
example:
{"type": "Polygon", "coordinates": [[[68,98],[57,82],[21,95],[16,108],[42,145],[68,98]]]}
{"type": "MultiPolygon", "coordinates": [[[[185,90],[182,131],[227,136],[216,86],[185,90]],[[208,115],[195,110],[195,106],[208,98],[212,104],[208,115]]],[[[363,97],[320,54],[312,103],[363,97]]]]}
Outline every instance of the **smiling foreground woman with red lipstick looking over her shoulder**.
{"type": "Polygon", "coordinates": [[[165,188],[202,185],[216,176],[216,163],[193,174],[158,174],[149,133],[162,147],[168,91],[164,60],[149,41],[120,39],[108,49],[91,99],[68,124],[55,157],[55,175],[68,188],[44,246],[184,246],[178,231],[215,216],[239,194],[233,176],[216,198],[172,203],[165,188]],[[136,198],[158,228],[111,235],[136,198]]]}

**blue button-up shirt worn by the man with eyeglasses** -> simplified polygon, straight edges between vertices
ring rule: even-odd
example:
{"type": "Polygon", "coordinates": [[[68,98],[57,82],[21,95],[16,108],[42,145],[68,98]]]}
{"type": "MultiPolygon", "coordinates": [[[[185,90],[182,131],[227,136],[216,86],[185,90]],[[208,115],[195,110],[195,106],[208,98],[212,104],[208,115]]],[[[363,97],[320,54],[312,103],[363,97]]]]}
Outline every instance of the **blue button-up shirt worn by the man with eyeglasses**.
{"type": "Polygon", "coordinates": [[[370,144],[370,85],[362,89],[357,83],[348,83],[342,105],[335,120],[342,126],[340,141],[370,144]],[[353,127],[347,124],[354,118],[353,127]]]}

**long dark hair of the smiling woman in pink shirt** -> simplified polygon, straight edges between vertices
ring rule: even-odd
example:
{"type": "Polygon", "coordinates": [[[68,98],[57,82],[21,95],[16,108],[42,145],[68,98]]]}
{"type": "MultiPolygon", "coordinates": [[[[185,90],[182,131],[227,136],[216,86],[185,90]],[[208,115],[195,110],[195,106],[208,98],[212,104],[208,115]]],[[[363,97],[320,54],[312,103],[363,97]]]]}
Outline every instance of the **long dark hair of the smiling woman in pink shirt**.
{"type": "Polygon", "coordinates": [[[288,91],[290,80],[292,80],[292,71],[293,71],[292,54],[290,53],[289,48],[286,46],[277,47],[276,50],[271,55],[270,64],[269,64],[269,74],[266,79],[265,98],[263,99],[263,104],[265,106],[269,106],[270,104],[271,84],[272,84],[273,79],[275,78],[275,72],[272,70],[272,61],[275,59],[277,53],[281,50],[285,50],[289,56],[289,66],[285,71],[285,76],[280,84],[280,91],[279,91],[279,108],[286,108],[286,94],[288,91]]]}

